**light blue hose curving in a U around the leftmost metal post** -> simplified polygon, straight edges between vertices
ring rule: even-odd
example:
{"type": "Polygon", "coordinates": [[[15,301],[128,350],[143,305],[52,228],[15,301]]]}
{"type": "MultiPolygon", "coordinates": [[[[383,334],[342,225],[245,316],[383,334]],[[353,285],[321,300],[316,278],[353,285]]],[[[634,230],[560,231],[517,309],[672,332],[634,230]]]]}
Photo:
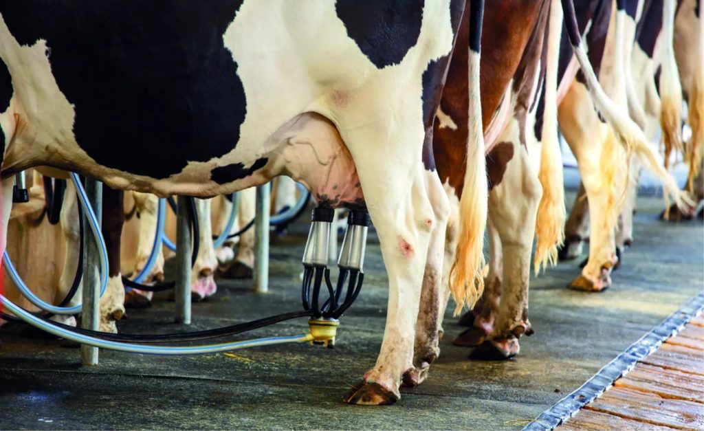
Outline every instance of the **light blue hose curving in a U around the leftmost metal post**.
{"type": "MultiPolygon", "coordinates": [[[[76,188],[78,201],[80,202],[81,207],[83,208],[83,212],[87,215],[90,230],[93,232],[93,237],[98,243],[100,261],[100,296],[102,297],[105,293],[106,287],[108,287],[108,252],[105,248],[105,242],[103,240],[103,235],[100,232],[98,220],[96,219],[92,206],[90,206],[90,204],[88,203],[88,198],[85,194],[86,192],[83,189],[83,185],[81,184],[78,175],[76,175],[75,173],[71,173],[71,180],[73,180],[73,185],[76,188]]],[[[5,268],[7,269],[8,275],[10,275],[12,282],[15,284],[15,287],[17,287],[20,293],[22,293],[35,306],[42,308],[42,310],[44,311],[54,314],[71,315],[81,312],[83,308],[82,304],[73,307],[58,307],[42,301],[39,296],[35,295],[34,292],[32,292],[32,290],[27,287],[27,285],[25,285],[25,282],[17,273],[17,270],[15,270],[15,267],[13,266],[12,261],[10,260],[10,256],[8,256],[7,254],[7,251],[5,251],[3,254],[3,263],[5,265],[5,268]]]]}

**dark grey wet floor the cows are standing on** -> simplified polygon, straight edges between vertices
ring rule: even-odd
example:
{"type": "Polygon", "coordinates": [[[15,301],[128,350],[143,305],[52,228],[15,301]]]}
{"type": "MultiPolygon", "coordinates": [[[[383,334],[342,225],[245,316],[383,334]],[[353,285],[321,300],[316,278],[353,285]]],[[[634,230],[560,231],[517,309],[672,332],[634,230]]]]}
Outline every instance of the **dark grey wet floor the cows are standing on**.
{"type": "MultiPolygon", "coordinates": [[[[572,197],[568,196],[568,202],[572,197]]],[[[348,406],[347,389],[373,366],[382,341],[386,275],[370,238],[363,292],[341,320],[334,349],[284,345],[237,356],[158,357],[101,351],[100,365],[80,366],[79,351],[0,330],[0,427],[30,429],[282,428],[513,429],[572,392],[629,344],[702,289],[704,232],[697,221],[665,225],[659,196],[641,196],[635,242],[606,292],[565,289],[579,261],[532,280],[532,337],[515,361],[470,361],[451,345],[460,332],[446,316],[441,356],[429,379],[402,389],[396,406],[348,406]]],[[[270,293],[249,281],[220,280],[218,294],[194,304],[194,324],[172,322],[172,302],[130,310],[129,333],[202,330],[297,310],[308,223],[297,223],[271,251],[270,293]]],[[[256,335],[294,335],[302,321],[256,335]]]]}

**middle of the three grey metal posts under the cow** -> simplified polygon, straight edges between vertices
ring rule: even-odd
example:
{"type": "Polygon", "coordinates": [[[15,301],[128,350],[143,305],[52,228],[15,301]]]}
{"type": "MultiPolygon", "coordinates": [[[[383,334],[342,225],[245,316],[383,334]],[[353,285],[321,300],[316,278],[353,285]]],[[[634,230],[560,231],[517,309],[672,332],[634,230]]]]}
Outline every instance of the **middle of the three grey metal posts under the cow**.
{"type": "Polygon", "coordinates": [[[186,196],[178,196],[176,213],[176,322],[191,324],[191,230],[186,196]]]}

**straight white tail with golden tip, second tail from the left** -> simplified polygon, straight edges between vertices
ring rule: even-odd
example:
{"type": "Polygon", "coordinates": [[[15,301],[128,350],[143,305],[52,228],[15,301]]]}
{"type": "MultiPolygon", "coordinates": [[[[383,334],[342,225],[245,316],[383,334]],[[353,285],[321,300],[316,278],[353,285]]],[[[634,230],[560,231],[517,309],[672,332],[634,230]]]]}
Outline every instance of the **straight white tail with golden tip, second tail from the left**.
{"type": "Polygon", "coordinates": [[[536,249],[533,261],[536,275],[558,261],[558,247],[565,241],[565,187],[562,181],[562,152],[558,140],[558,56],[562,33],[562,8],[558,0],[550,6],[548,56],[545,73],[545,110],[538,178],[543,196],[535,223],[536,249]]]}

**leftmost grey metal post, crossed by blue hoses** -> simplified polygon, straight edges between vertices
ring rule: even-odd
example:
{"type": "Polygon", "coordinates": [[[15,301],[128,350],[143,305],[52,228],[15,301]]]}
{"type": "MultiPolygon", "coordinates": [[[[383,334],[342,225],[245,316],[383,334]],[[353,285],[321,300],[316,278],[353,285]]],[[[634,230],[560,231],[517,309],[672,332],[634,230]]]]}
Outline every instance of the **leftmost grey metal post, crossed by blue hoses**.
{"type": "MultiPolygon", "coordinates": [[[[91,206],[98,227],[101,225],[103,209],[103,185],[96,180],[86,180],[85,196],[91,206]]],[[[90,218],[90,215],[85,215],[90,218]]],[[[88,221],[90,223],[90,221],[88,221]]],[[[100,281],[98,266],[100,250],[95,241],[85,241],[83,244],[85,256],[83,261],[83,292],[81,311],[81,327],[87,330],[98,330],[100,327],[100,281]]],[[[81,346],[81,362],[84,366],[98,365],[98,349],[95,346],[81,346]]]]}

